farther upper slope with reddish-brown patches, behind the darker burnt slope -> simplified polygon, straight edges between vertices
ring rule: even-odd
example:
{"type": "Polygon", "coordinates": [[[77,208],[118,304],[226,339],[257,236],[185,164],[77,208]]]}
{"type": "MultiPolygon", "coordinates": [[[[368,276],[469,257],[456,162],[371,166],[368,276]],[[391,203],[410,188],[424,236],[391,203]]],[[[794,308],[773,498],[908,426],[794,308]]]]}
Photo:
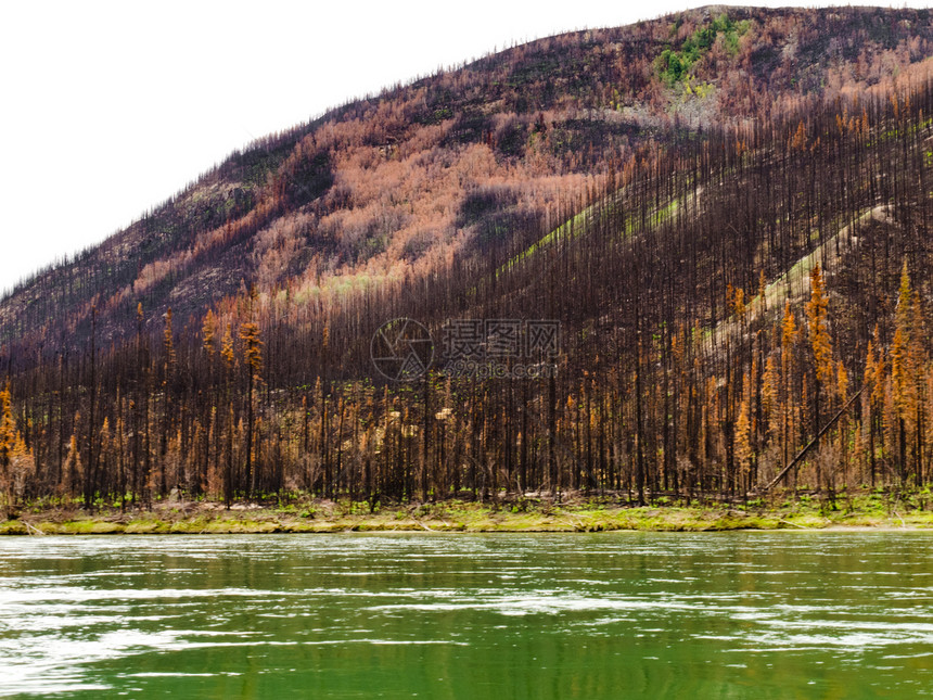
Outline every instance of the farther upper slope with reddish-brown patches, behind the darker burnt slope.
{"type": "MultiPolygon", "coordinates": [[[[237,152],[0,303],[0,342],[77,351],[256,283],[294,300],[486,255],[685,131],[855,94],[931,54],[926,11],[706,8],[542,39],[237,152]]],[[[102,194],[105,196],[105,194],[102,194]]],[[[529,241],[531,243],[531,241],[529,241]]]]}

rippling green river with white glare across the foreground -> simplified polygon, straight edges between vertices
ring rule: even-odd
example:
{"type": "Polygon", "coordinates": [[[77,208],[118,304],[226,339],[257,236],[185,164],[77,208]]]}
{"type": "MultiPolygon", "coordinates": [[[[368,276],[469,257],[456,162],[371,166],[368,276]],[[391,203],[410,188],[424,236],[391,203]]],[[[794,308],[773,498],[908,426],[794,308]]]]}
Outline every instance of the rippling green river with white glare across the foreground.
{"type": "Polygon", "coordinates": [[[933,695],[933,533],[0,540],[0,695],[933,695]]]}

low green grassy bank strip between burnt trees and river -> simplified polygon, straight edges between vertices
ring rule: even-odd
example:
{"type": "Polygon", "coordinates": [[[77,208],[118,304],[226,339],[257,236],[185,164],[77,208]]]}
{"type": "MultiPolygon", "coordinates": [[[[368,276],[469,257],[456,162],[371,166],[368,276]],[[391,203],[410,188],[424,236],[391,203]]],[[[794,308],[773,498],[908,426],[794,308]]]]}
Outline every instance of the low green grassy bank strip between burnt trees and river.
{"type": "Polygon", "coordinates": [[[168,498],[151,509],[40,501],[8,513],[0,535],[269,534],[350,532],[725,532],[737,530],[933,530],[933,495],[882,489],[774,494],[767,499],[660,497],[648,506],[624,498],[564,495],[500,501],[369,504],[294,498],[221,502],[168,498]]]}

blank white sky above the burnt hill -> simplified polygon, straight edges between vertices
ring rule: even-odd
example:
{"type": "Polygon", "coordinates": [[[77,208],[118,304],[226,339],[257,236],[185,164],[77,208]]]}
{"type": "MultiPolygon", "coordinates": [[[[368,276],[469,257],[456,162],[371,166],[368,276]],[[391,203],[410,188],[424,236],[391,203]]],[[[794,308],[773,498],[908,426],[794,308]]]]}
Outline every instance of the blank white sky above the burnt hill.
{"type": "Polygon", "coordinates": [[[349,98],[514,42],[702,4],[7,3],[0,291],[103,240],[253,138],[349,98]]]}

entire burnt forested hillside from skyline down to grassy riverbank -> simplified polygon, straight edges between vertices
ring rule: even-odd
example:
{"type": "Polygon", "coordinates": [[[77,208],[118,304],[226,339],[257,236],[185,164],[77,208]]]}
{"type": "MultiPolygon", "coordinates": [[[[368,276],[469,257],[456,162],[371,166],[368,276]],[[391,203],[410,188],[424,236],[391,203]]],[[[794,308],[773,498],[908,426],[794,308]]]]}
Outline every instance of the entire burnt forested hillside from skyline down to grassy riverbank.
{"type": "Polygon", "coordinates": [[[146,217],[179,224],[132,272],[144,221],[4,303],[8,501],[929,483],[929,28],[730,9],[565,35],[239,154],[146,217]],[[422,359],[380,346],[402,317],[435,357],[392,381],[373,356],[422,359]]]}

